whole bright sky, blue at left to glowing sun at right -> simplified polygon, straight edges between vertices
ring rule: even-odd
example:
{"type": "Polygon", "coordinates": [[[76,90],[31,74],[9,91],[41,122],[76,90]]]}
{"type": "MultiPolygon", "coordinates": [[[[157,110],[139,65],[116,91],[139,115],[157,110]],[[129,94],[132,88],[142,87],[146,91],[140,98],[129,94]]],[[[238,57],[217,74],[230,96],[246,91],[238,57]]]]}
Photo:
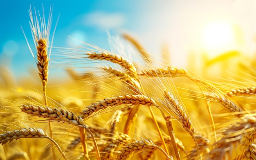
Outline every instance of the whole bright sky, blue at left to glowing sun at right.
{"type": "Polygon", "coordinates": [[[108,33],[125,33],[198,75],[227,57],[255,59],[256,0],[6,0],[0,2],[0,65],[16,79],[36,68],[20,26],[34,48],[28,10],[31,4],[42,13],[42,3],[46,18],[52,4],[52,31],[60,15],[53,46],[78,45],[70,35],[110,50],[108,33]]]}

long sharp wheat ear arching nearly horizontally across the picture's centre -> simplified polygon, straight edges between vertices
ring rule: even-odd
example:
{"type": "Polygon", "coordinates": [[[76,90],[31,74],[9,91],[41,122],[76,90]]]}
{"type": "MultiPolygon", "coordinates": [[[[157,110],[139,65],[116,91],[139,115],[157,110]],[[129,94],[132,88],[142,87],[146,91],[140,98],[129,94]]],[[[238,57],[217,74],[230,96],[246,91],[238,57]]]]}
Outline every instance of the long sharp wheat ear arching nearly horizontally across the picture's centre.
{"type": "Polygon", "coordinates": [[[113,105],[121,105],[121,104],[130,104],[130,105],[141,104],[141,105],[157,106],[155,101],[147,96],[126,94],[123,96],[115,96],[108,99],[103,99],[98,103],[92,103],[92,105],[87,106],[86,109],[81,112],[80,116],[83,117],[83,119],[85,119],[88,116],[92,115],[93,113],[98,112],[99,110],[103,110],[113,105]]]}

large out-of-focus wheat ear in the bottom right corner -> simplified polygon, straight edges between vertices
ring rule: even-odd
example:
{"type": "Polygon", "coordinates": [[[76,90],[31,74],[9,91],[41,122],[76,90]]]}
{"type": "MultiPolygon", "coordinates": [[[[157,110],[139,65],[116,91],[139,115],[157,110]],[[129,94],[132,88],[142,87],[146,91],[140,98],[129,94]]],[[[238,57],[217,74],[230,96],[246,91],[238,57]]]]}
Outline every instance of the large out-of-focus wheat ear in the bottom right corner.
{"type": "Polygon", "coordinates": [[[245,153],[246,149],[256,139],[256,117],[246,115],[238,120],[232,127],[225,129],[222,133],[223,138],[216,142],[216,145],[205,155],[207,160],[222,160],[223,158],[232,159],[238,147],[243,147],[238,155],[238,159],[250,156],[245,153]],[[245,155],[246,154],[246,155],[245,155]]]}

